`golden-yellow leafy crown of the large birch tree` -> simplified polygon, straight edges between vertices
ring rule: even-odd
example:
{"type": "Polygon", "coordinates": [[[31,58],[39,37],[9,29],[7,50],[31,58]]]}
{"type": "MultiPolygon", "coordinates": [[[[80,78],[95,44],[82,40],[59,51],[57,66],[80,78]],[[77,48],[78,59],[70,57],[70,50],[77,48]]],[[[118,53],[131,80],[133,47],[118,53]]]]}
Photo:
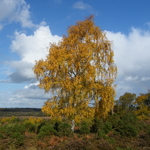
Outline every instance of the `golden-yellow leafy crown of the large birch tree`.
{"type": "Polygon", "coordinates": [[[33,68],[39,87],[55,94],[42,111],[75,121],[107,116],[115,96],[113,56],[111,43],[95,26],[93,16],[70,26],[68,36],[51,44],[46,60],[37,61],[33,68]]]}

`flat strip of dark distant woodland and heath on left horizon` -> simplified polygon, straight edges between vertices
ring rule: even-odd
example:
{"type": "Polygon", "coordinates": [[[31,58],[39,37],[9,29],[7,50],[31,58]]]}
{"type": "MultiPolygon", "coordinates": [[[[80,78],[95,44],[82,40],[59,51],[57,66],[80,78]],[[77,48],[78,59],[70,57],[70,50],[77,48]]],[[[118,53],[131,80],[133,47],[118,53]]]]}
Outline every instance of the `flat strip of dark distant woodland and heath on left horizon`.
{"type": "Polygon", "coordinates": [[[0,116],[45,116],[40,108],[0,108],[0,116]]]}

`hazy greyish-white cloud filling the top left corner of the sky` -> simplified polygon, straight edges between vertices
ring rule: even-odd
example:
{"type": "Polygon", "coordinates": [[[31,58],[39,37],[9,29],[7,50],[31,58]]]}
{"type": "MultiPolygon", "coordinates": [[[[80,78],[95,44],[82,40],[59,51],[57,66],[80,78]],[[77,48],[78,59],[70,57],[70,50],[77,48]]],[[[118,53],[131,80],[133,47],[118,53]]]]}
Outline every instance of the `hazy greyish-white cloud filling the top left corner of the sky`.
{"type": "Polygon", "coordinates": [[[24,0],[1,0],[0,29],[11,22],[19,22],[22,27],[34,27],[29,8],[30,6],[24,0]]]}

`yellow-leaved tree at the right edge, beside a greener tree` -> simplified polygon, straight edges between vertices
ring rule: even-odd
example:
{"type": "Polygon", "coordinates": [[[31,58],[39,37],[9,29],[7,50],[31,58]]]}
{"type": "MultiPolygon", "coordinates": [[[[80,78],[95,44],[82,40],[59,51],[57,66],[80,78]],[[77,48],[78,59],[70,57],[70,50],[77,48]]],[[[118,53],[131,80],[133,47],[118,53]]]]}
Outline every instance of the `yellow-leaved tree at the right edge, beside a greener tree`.
{"type": "Polygon", "coordinates": [[[150,93],[140,94],[134,104],[137,105],[135,114],[139,119],[150,119],[150,93]]]}

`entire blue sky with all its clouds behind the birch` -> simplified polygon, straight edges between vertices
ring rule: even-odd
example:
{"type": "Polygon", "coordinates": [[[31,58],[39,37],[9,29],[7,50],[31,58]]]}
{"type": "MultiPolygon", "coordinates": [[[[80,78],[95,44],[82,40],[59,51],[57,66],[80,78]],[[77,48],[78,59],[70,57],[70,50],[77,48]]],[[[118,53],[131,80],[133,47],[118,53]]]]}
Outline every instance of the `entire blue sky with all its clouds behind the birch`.
{"type": "Polygon", "coordinates": [[[93,14],[112,41],[116,99],[150,89],[149,0],[0,0],[0,107],[40,108],[50,97],[32,68],[70,25],[93,14]]]}

